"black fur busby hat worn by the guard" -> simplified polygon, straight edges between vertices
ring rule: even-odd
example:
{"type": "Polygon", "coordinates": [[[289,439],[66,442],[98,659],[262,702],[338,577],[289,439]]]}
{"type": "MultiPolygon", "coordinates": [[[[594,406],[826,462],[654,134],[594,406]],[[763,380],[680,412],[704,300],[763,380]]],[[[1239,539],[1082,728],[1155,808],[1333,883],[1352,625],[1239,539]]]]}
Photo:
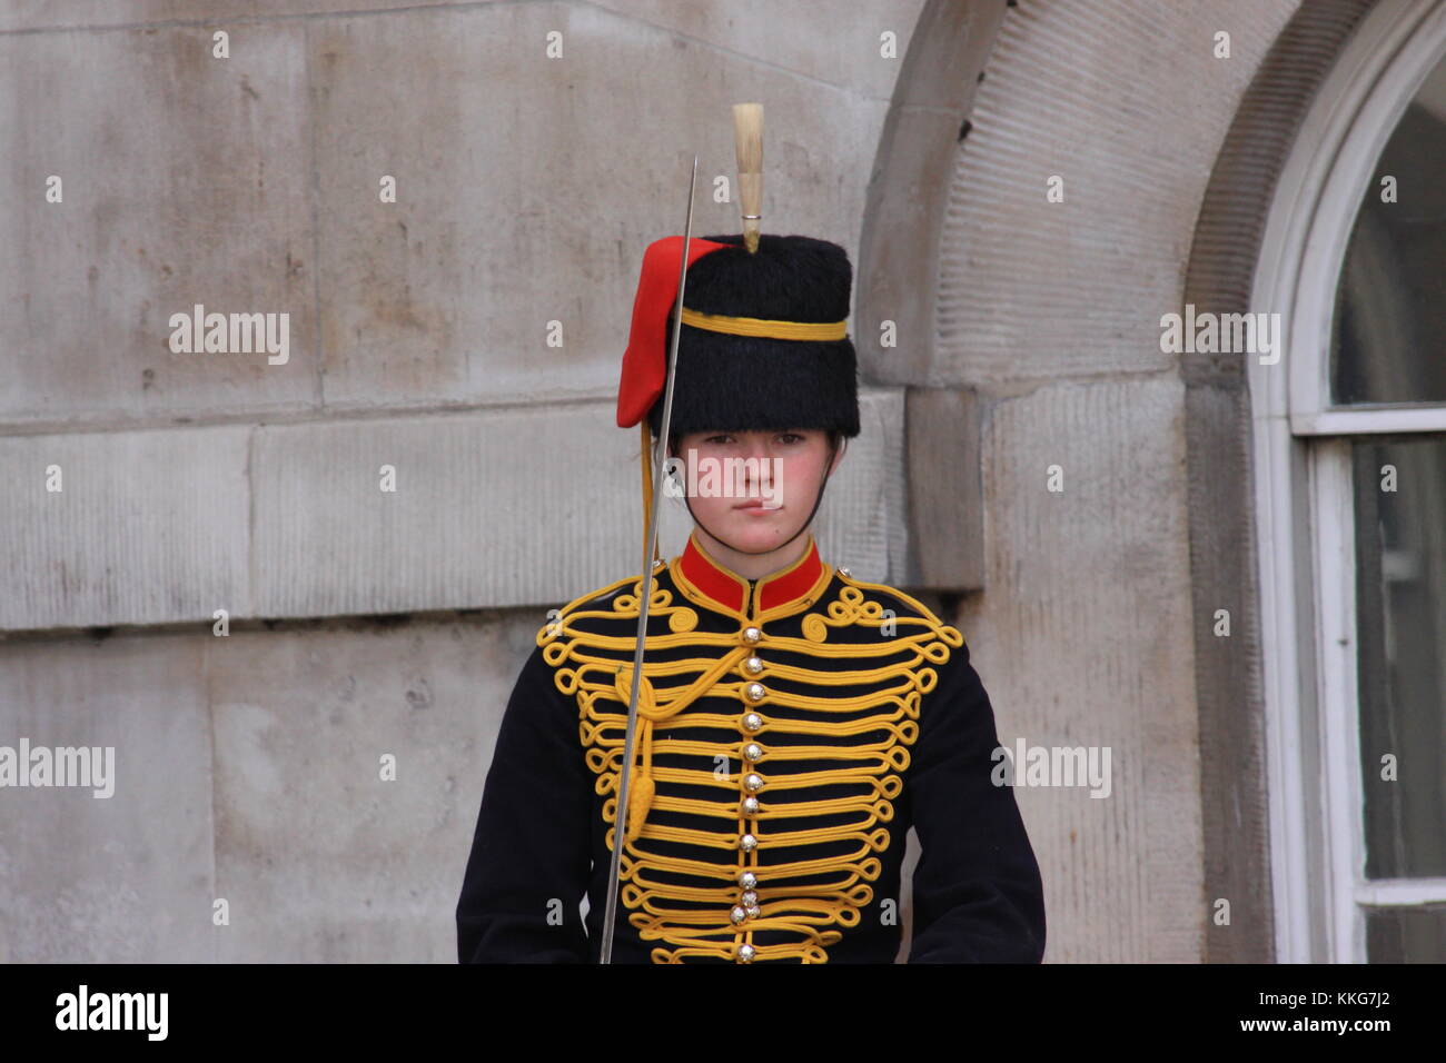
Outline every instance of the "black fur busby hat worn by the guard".
{"type": "MultiPolygon", "coordinates": [[[[836,243],[807,236],[709,236],[733,244],[688,268],[683,305],[703,314],[794,323],[849,318],[853,266],[836,243]]],[[[667,338],[672,341],[672,314],[667,338]]],[[[674,434],[817,428],[859,434],[857,359],[853,341],[778,340],[694,328],[684,321],[672,395],[674,434]]],[[[659,396],[648,411],[662,427],[659,396]]]]}

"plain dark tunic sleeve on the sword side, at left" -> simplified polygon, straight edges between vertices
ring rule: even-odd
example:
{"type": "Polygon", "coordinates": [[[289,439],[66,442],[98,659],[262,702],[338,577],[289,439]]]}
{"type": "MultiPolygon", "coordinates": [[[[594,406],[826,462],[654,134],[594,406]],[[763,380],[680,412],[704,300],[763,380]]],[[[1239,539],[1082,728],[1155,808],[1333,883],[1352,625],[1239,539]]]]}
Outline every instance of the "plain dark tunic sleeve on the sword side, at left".
{"type": "Polygon", "coordinates": [[[461,963],[586,963],[593,775],[535,649],[508,701],[457,902],[461,963]]]}

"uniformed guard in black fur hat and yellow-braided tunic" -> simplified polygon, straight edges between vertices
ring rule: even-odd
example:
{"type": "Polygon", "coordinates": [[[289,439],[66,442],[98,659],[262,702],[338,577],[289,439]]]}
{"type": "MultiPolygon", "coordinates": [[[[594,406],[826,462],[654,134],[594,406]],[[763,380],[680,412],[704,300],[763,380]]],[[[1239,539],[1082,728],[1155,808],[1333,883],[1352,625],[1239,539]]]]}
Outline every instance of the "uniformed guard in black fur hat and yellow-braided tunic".
{"type": "MultiPolygon", "coordinates": [[[[648,249],[633,305],[617,424],[645,443],[681,255],[648,249]]],[[[1038,962],[1040,869],[963,636],[814,539],[859,434],[847,255],[765,234],[688,256],[668,454],[694,528],[648,579],[612,959],[889,963],[908,907],[910,962],[1038,962]]],[[[463,962],[600,956],[642,593],[629,574],[536,635],[457,905],[463,962]]]]}

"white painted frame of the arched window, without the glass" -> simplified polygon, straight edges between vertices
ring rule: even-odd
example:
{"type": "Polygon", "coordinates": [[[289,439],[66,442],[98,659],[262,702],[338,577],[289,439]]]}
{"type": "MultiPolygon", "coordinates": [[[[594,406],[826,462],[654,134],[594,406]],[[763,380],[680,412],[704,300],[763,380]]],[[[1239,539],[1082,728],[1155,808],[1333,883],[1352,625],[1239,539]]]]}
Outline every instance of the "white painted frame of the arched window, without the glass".
{"type": "Polygon", "coordinates": [[[1251,309],[1285,323],[1249,356],[1275,955],[1365,962],[1372,905],[1446,879],[1366,882],[1351,438],[1446,431],[1446,404],[1336,406],[1332,315],[1355,217],[1407,104],[1446,55],[1446,0],[1381,0],[1326,77],[1275,185],[1251,309]],[[1336,437],[1336,438],[1330,438],[1336,437]]]}

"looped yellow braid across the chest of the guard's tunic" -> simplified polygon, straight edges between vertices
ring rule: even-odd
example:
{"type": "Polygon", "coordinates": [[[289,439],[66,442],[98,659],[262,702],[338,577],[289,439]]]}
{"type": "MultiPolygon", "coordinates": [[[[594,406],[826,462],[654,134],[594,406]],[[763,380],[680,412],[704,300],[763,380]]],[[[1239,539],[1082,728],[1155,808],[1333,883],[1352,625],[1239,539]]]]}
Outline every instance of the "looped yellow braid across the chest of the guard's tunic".
{"type": "MultiPolygon", "coordinates": [[[[691,597],[691,584],[677,561],[671,563],[669,573],[680,589],[691,597]]],[[[830,577],[831,571],[826,573],[818,589],[826,586],[830,577]]],[[[626,730],[632,668],[625,661],[636,646],[636,632],[604,633],[607,622],[636,618],[646,583],[654,596],[649,615],[667,618],[669,629],[669,633],[649,636],[648,649],[662,654],[669,649],[694,651],[671,661],[645,658],[645,674],[638,696],[642,765],[635,768],[629,791],[628,834],[623,839],[620,872],[625,879],[622,900],[629,908],[635,908],[629,920],[645,940],[669,946],[654,949],[652,959],[656,963],[678,963],[690,956],[730,959],[736,955],[739,942],[746,940],[753,944],[756,930],[784,930],[798,936],[794,943],[756,946],[761,960],[792,957],[804,963],[827,963],[827,946],[842,939],[837,927],[856,926],[860,908],[873,898],[873,888],[869,884],[882,869],[875,853],[884,852],[889,845],[889,829],[885,824],[894,819],[894,801],[904,790],[902,774],[910,765],[910,746],[918,738],[921,701],[937,683],[936,670],[950,658],[953,648],[963,645],[963,635],[901,590],[843,577],[842,573],[840,577],[843,586],[837,594],[831,600],[817,600],[803,618],[801,638],[765,633],[762,646],[788,651],[769,662],[768,674],[811,686],[820,694],[829,687],[884,686],[860,696],[839,691],[839,696],[833,697],[790,694],[787,687],[772,688],[768,700],[778,706],[807,709],[814,714],[837,714],[837,719],[834,722],[792,719],[775,713],[769,716],[768,727],[797,736],[795,742],[803,739],[801,743],[779,745],[775,756],[829,758],[842,764],[833,769],[811,772],[810,784],[846,782],[862,787],[865,793],[818,801],[771,803],[765,798],[758,819],[762,824],[768,824],[775,819],[826,817],[840,811],[853,811],[859,819],[843,824],[768,833],[759,839],[758,846],[804,846],[844,840],[855,843],[855,848],[844,853],[769,865],[768,878],[772,881],[781,876],[821,874],[831,874],[834,878],[805,888],[761,882],[756,889],[761,917],[749,920],[743,927],[733,927],[729,923],[729,908],[736,891],[732,876],[759,868],[756,852],[739,858],[742,862],[737,865],[732,865],[729,858],[713,865],[658,852],[648,843],[649,839],[687,843],[726,850],[729,856],[736,852],[736,832],[745,829],[737,820],[736,800],[733,800],[733,794],[737,793],[737,778],[719,777],[707,769],[655,768],[652,758],[654,752],[707,758],[736,756],[740,736],[732,712],[698,713],[688,717],[688,726],[720,732],[716,740],[658,739],[655,730],[704,694],[723,699],[723,704],[742,701],[748,680],[740,678],[740,664],[752,654],[752,648],[739,644],[737,632],[697,631],[697,615],[688,607],[690,602],[674,600],[674,596],[659,587],[652,577],[626,579],[612,584],[606,589],[612,600],[600,609],[586,607],[597,592],[583,596],[562,609],[560,622],[538,633],[544,658],[555,670],[554,680],[558,690],[577,700],[578,736],[587,765],[597,775],[596,793],[615,795],[603,804],[603,820],[615,824],[609,846],[617,843],[616,794],[623,759],[623,740],[615,736],[626,730]],[[885,593],[907,603],[918,615],[895,616],[895,610],[885,610],[870,592],[885,593]],[[834,628],[860,625],[878,629],[878,638],[862,642],[830,638],[834,628]],[[807,658],[847,659],[853,667],[834,670],[823,665],[823,661],[810,667],[807,658]],[[684,677],[685,681],[665,688],[656,687],[655,681],[665,677],[684,677]],[[885,735],[879,742],[840,745],[836,740],[842,735],[876,730],[885,735]],[[667,782],[669,788],[680,785],[713,788],[720,794],[719,800],[659,794],[658,782],[667,782]],[[727,823],[730,830],[719,833],[649,821],[651,808],[717,819],[727,823]],[[681,885],[658,878],[659,872],[701,876],[704,884],[681,885]],[[716,885],[709,885],[709,879],[716,879],[716,885]],[[701,902],[707,907],[675,907],[669,901],[694,905],[701,902]]],[[[765,609],[755,616],[733,610],[719,612],[732,615],[740,625],[765,626],[771,619],[792,609],[790,606],[765,609]]],[[[787,777],[779,777],[779,784],[787,781],[787,777]]]]}

